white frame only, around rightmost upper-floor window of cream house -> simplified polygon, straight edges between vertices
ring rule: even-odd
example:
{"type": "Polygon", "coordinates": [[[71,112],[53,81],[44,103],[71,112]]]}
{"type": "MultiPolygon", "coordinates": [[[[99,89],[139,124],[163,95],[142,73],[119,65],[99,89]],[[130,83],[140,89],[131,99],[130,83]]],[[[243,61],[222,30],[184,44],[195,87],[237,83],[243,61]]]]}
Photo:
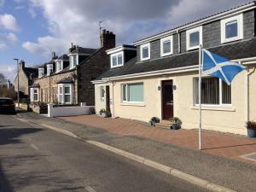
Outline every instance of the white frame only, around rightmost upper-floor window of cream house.
{"type": "Polygon", "coordinates": [[[228,43],[232,41],[237,41],[243,38],[243,15],[236,15],[220,21],[221,30],[221,43],[228,43]],[[230,21],[237,20],[237,37],[226,38],[226,24],[230,21]]]}

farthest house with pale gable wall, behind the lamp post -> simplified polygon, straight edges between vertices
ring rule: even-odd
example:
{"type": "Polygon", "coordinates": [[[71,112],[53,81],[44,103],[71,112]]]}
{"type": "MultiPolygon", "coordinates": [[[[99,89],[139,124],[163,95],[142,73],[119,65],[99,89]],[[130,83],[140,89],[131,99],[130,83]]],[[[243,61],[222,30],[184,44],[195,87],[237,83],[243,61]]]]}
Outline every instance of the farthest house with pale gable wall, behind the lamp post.
{"type": "MultiPolygon", "coordinates": [[[[20,98],[26,99],[29,97],[29,87],[32,85],[32,79],[38,76],[38,69],[25,67],[25,61],[20,61],[18,73],[20,98]]],[[[15,77],[15,91],[18,91],[18,75],[15,77]]]]}

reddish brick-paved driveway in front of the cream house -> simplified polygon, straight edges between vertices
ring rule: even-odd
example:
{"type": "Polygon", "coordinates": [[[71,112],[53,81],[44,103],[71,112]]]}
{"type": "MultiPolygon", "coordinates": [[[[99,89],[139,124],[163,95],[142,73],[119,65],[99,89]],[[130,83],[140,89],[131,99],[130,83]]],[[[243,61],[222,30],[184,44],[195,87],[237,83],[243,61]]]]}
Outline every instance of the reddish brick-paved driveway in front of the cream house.
{"type": "MultiPolygon", "coordinates": [[[[198,149],[198,131],[196,130],[165,130],[131,119],[110,119],[96,115],[59,117],[59,119],[99,127],[123,136],[135,135],[162,143],[172,143],[184,148],[198,149]]],[[[203,152],[208,154],[215,154],[256,165],[256,161],[241,157],[244,154],[256,153],[256,138],[202,131],[202,148],[203,152]]]]}

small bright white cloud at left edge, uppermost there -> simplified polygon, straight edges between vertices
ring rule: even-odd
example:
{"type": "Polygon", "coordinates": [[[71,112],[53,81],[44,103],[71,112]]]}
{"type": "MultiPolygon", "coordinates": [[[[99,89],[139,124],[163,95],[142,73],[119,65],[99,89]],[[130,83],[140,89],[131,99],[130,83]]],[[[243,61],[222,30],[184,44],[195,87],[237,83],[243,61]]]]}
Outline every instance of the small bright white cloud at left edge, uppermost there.
{"type": "Polygon", "coordinates": [[[19,31],[17,20],[13,15],[9,14],[0,15],[0,27],[9,31],[19,31]]]}

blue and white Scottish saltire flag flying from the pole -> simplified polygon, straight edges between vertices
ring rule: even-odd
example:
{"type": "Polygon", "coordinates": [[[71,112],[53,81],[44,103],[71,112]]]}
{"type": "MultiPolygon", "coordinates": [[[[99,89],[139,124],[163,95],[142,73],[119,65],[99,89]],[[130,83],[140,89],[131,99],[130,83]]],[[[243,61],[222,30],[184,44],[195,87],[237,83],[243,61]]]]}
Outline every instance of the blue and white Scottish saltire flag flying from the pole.
{"type": "Polygon", "coordinates": [[[232,62],[224,57],[215,55],[207,49],[202,49],[202,71],[209,75],[222,79],[226,84],[231,84],[238,73],[244,70],[241,64],[232,62]]]}

